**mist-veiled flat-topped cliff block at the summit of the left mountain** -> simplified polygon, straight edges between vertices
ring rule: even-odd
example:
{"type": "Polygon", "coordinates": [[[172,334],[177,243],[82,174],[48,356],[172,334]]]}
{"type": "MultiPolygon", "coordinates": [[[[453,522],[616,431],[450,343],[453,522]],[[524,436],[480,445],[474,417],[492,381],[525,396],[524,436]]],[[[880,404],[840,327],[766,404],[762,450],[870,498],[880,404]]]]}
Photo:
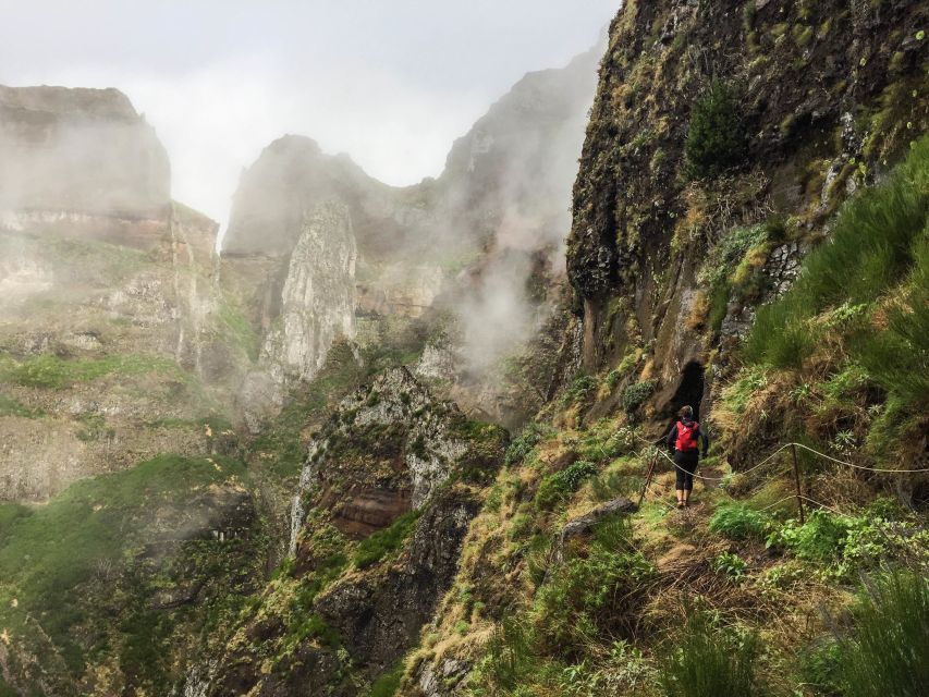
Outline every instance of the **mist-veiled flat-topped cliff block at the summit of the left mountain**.
{"type": "Polygon", "coordinates": [[[121,91],[0,85],[0,209],[162,218],[170,176],[121,91]]]}

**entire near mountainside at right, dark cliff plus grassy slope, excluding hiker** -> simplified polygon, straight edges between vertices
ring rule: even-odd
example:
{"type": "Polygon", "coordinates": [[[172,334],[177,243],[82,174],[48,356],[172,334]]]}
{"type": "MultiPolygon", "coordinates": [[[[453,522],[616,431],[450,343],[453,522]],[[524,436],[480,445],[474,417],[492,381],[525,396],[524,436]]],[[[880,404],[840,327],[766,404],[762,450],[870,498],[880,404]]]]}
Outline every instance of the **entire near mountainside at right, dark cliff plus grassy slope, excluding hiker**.
{"type": "Polygon", "coordinates": [[[927,20],[626,3],[575,184],[583,370],[514,439],[396,694],[921,694],[927,20]],[[659,455],[629,514],[687,403],[696,505],[659,455]],[[754,468],[790,441],[833,458],[798,449],[804,523],[791,451],[754,468]]]}

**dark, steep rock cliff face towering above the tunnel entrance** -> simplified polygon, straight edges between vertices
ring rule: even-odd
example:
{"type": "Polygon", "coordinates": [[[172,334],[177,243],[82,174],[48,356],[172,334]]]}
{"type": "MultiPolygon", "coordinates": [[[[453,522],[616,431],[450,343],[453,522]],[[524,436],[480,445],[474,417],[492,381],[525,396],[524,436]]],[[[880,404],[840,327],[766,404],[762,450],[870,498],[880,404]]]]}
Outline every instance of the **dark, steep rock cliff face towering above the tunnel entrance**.
{"type": "Polygon", "coordinates": [[[645,409],[657,421],[709,398],[701,376],[719,341],[739,333],[751,306],[786,289],[848,192],[906,145],[904,131],[926,125],[918,84],[927,46],[912,30],[926,23],[925,7],[751,9],[628,2],[601,63],[567,268],[586,369],[652,347],[647,375],[629,381],[658,381],[645,409]],[[695,47],[699,60],[690,60],[695,47]],[[685,142],[712,80],[729,85],[744,148],[739,166],[699,179],[685,142]],[[750,258],[741,249],[726,257],[722,280],[712,277],[714,259],[753,225],[767,227],[767,236],[756,239],[750,258]]]}

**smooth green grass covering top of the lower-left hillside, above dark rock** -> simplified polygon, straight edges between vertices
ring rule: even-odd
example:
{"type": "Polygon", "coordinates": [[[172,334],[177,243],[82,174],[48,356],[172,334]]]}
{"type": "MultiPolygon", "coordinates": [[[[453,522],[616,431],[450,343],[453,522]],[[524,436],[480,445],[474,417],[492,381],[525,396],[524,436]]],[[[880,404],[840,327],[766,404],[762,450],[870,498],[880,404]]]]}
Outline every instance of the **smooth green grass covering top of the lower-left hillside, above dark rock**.
{"type": "Polygon", "coordinates": [[[240,463],[213,461],[220,469],[207,460],[161,455],[73,484],[42,506],[0,506],[0,620],[16,622],[9,610],[15,598],[19,612],[36,616],[78,668],[72,629],[88,617],[78,589],[99,564],[125,561],[159,505],[183,506],[209,484],[245,478],[240,463]]]}

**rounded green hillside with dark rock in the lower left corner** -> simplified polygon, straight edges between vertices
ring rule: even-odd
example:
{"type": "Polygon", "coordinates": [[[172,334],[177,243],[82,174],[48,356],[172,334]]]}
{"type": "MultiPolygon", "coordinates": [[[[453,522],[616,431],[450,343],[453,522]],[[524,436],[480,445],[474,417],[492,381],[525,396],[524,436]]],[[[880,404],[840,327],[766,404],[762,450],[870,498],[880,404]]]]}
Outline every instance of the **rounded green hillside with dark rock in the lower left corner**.
{"type": "Polygon", "coordinates": [[[255,587],[248,475],[162,455],[0,506],[4,672],[48,694],[164,694],[255,587]]]}

